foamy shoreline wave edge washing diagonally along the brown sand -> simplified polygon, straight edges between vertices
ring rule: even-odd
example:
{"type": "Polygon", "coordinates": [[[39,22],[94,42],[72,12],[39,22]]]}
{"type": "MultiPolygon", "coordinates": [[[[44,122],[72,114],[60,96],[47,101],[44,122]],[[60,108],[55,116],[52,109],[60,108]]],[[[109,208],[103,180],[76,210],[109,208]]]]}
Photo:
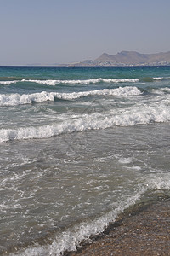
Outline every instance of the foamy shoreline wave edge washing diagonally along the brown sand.
{"type": "MultiPolygon", "coordinates": [[[[104,215],[82,221],[68,228],[62,233],[57,233],[54,236],[54,241],[48,244],[38,244],[23,248],[18,252],[10,253],[11,256],[36,256],[36,255],[63,255],[65,252],[77,251],[82,241],[88,241],[90,236],[96,236],[102,233],[109,224],[116,221],[117,216],[128,207],[138,204],[143,199],[144,194],[150,193],[150,199],[155,197],[156,191],[166,191],[170,189],[170,175],[169,173],[162,173],[159,177],[150,175],[148,179],[144,179],[143,183],[135,189],[133,195],[128,195],[114,205],[114,209],[104,215]]],[[[159,195],[159,194],[158,194],[159,195]]]]}

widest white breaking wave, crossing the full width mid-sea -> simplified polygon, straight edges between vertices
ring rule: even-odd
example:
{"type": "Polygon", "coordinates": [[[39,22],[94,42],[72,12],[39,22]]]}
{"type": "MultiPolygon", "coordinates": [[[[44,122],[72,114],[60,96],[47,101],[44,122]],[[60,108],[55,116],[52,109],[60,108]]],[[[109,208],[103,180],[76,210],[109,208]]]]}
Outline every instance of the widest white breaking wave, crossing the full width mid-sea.
{"type": "Polygon", "coordinates": [[[170,121],[169,107],[164,104],[157,108],[155,106],[152,108],[147,106],[132,108],[128,113],[126,111],[119,113],[118,109],[111,111],[110,113],[84,113],[75,119],[67,119],[54,125],[2,129],[0,130],[0,143],[13,140],[48,138],[67,132],[99,130],[112,126],[147,125],[170,121]]]}

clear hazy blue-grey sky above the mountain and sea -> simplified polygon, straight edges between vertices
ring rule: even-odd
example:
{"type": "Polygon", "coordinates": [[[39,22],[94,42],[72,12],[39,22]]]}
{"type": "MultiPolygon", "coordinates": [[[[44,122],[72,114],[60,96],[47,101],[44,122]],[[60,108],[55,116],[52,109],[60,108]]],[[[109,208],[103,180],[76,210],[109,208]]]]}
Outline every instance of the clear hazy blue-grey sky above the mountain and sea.
{"type": "Polygon", "coordinates": [[[0,0],[0,65],[170,51],[169,0],[0,0]]]}

